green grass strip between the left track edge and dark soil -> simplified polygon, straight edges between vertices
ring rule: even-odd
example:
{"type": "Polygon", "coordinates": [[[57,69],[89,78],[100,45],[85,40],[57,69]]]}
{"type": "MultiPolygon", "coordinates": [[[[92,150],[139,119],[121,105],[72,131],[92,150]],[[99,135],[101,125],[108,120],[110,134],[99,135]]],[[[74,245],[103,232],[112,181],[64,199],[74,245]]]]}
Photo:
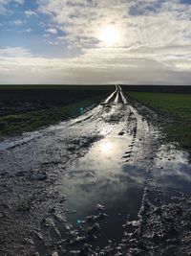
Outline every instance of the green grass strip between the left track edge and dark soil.
{"type": "Polygon", "coordinates": [[[2,116],[0,117],[0,137],[18,135],[24,131],[56,124],[82,114],[86,107],[97,102],[100,102],[100,96],[81,100],[71,105],[2,116]]]}

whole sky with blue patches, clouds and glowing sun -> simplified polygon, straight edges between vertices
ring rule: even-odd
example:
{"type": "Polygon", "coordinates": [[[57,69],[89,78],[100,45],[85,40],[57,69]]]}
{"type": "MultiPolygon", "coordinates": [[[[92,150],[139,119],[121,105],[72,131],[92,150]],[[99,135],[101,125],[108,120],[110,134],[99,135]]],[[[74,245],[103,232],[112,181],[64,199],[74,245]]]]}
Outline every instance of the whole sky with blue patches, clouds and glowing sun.
{"type": "Polygon", "coordinates": [[[0,0],[0,84],[191,84],[191,0],[0,0]]]}

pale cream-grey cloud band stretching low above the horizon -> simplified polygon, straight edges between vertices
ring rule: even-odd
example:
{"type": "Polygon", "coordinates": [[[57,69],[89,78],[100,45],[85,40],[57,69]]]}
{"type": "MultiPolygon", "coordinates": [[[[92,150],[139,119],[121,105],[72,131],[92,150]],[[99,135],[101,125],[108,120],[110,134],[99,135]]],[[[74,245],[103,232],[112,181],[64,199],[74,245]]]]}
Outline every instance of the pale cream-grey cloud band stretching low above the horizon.
{"type": "MultiPolygon", "coordinates": [[[[74,58],[42,58],[23,48],[1,49],[0,82],[189,84],[191,59],[180,58],[180,50],[177,58],[170,58],[173,51],[158,48],[152,54],[147,48],[139,52],[100,48],[74,58]]],[[[184,55],[189,53],[189,47],[184,49],[184,55]]]]}

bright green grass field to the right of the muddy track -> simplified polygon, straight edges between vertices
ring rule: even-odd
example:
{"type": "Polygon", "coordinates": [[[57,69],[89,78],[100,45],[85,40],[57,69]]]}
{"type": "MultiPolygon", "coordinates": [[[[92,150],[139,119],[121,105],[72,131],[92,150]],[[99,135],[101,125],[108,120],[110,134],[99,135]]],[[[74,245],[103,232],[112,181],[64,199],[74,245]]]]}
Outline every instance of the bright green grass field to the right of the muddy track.
{"type": "Polygon", "coordinates": [[[128,95],[143,105],[157,110],[160,114],[172,116],[166,120],[166,140],[178,142],[191,157],[191,94],[128,92],[128,95]]]}

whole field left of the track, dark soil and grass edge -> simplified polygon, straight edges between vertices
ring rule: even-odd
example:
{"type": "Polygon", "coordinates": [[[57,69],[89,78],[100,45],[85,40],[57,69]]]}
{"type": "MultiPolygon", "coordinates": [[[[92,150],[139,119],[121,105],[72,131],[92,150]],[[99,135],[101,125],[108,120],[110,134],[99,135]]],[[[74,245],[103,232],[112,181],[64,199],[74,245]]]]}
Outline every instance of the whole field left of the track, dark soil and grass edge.
{"type": "Polygon", "coordinates": [[[0,137],[22,134],[80,115],[115,86],[0,85],[0,137]]]}

